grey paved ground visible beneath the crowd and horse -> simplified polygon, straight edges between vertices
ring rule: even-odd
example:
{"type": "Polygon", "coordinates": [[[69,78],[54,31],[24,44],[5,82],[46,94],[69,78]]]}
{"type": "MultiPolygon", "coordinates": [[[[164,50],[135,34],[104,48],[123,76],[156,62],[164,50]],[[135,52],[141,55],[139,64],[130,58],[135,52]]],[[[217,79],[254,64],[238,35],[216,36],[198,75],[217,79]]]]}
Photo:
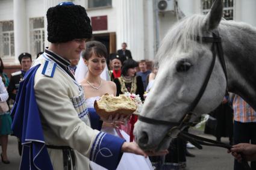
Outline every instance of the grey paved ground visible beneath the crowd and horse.
{"type": "MultiPolygon", "coordinates": [[[[193,133],[202,135],[202,132],[196,130],[193,133]]],[[[207,138],[214,139],[212,136],[203,135],[207,138]]],[[[222,138],[223,142],[228,142],[227,138],[222,138]]],[[[187,170],[231,170],[233,169],[233,157],[226,153],[223,148],[204,147],[203,150],[190,149],[191,153],[196,157],[187,157],[187,170]]],[[[16,170],[19,169],[20,156],[17,152],[17,139],[13,136],[9,138],[8,157],[10,165],[5,165],[0,162],[1,170],[16,170]]],[[[78,169],[80,170],[80,169],[78,169]]],[[[133,169],[131,169],[133,170],[133,169]]],[[[142,169],[143,170],[143,169],[142,169]]]]}

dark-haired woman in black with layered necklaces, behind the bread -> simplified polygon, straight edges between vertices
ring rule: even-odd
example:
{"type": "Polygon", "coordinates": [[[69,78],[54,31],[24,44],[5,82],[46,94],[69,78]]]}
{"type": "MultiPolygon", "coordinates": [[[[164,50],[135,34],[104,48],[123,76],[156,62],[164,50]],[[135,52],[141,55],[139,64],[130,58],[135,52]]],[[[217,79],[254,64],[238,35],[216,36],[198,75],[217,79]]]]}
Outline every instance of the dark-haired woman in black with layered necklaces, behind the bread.
{"type": "MultiPolygon", "coordinates": [[[[121,76],[114,79],[114,83],[116,83],[117,88],[116,96],[129,92],[139,94],[140,99],[144,101],[142,77],[136,76],[136,67],[138,67],[138,63],[133,59],[127,59],[123,62],[121,76]]],[[[133,129],[137,119],[136,115],[132,115],[129,123],[126,126],[121,126],[121,129],[125,130],[125,132],[130,135],[130,142],[133,142],[134,140],[133,129]]]]}

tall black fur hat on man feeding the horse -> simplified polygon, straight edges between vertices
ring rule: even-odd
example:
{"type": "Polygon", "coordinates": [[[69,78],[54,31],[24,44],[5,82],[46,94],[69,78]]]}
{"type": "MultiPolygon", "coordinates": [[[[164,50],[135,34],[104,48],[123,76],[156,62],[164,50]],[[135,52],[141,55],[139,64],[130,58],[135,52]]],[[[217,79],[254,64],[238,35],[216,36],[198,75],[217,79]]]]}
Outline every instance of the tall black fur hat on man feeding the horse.
{"type": "Polygon", "coordinates": [[[63,2],[47,11],[48,41],[65,43],[76,38],[91,38],[92,26],[86,9],[72,2],[63,2]]]}

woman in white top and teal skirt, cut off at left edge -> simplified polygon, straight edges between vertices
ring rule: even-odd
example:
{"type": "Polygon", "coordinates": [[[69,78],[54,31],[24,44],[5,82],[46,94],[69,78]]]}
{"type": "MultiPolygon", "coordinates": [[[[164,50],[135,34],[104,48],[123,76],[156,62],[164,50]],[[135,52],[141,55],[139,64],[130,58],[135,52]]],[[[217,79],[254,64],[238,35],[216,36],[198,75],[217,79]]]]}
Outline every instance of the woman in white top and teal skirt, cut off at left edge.
{"type": "Polygon", "coordinates": [[[9,164],[10,161],[7,157],[7,144],[8,144],[8,135],[11,134],[11,117],[10,112],[6,103],[8,99],[8,93],[0,77],[0,142],[2,147],[1,160],[5,164],[9,164]],[[5,105],[5,106],[3,106],[5,105]],[[5,110],[5,111],[3,111],[5,110]]]}

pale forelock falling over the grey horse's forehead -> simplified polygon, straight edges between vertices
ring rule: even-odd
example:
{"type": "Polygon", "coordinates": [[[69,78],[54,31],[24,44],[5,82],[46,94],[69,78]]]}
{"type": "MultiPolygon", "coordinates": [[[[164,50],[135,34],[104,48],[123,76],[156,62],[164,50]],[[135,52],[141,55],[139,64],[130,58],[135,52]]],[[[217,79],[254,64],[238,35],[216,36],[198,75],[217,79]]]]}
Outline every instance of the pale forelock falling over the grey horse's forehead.
{"type": "Polygon", "coordinates": [[[184,52],[193,49],[196,46],[196,41],[192,35],[202,36],[204,18],[205,16],[203,15],[195,14],[185,17],[173,25],[161,41],[160,48],[157,52],[158,61],[160,63],[165,61],[168,56],[173,55],[177,50],[184,52]]]}

